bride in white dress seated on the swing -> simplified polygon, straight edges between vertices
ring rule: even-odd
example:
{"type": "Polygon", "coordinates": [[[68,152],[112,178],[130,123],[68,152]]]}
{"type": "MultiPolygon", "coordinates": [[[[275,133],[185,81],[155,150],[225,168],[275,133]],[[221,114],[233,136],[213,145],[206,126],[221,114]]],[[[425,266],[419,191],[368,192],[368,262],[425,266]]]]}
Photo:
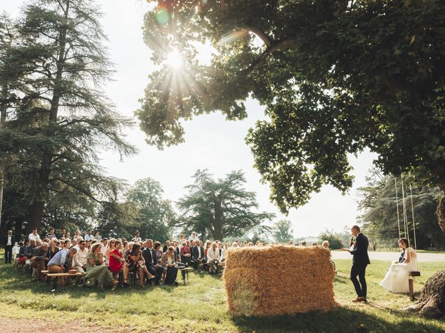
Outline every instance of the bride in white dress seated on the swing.
{"type": "Polygon", "coordinates": [[[408,280],[410,272],[417,271],[417,254],[414,248],[408,246],[406,238],[399,239],[398,245],[402,249],[401,257],[391,264],[380,286],[393,293],[409,293],[408,280]]]}

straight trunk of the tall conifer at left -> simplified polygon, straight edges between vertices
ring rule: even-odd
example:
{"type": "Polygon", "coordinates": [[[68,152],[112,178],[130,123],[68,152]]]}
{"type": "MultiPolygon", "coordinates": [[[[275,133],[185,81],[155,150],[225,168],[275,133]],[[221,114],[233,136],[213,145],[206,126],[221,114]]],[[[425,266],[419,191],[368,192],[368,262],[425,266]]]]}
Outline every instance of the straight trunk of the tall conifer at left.
{"type": "MultiPolygon", "coordinates": [[[[56,123],[60,98],[62,97],[63,88],[63,71],[65,69],[65,50],[67,44],[67,22],[68,14],[70,12],[70,1],[67,1],[67,6],[64,10],[64,22],[60,28],[60,38],[58,44],[58,59],[57,72],[54,78],[54,91],[51,99],[51,109],[49,110],[49,122],[56,123]]],[[[42,225],[42,217],[44,211],[45,197],[47,196],[49,175],[51,173],[51,161],[53,159],[54,151],[51,149],[45,150],[40,164],[38,192],[36,198],[31,205],[31,217],[27,232],[33,228],[40,228],[42,225]]]]}

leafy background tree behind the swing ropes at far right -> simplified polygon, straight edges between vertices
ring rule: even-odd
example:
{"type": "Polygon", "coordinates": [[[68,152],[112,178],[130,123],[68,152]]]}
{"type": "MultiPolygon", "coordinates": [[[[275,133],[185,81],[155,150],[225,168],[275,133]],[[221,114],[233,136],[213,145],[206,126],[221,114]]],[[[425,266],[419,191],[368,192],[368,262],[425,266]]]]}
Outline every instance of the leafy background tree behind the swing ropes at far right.
{"type": "Polygon", "coordinates": [[[395,180],[394,176],[383,176],[378,169],[371,170],[369,176],[366,177],[366,182],[366,186],[358,189],[361,196],[359,208],[364,212],[359,219],[364,224],[364,228],[373,242],[377,241],[377,244],[382,242],[397,246],[400,226],[401,237],[409,236],[412,246],[414,244],[417,248],[434,246],[439,250],[445,248],[445,234],[437,224],[436,215],[437,203],[441,196],[439,188],[412,185],[409,178],[397,178],[395,180]],[[405,190],[405,201],[402,197],[402,182],[405,190]],[[407,213],[407,230],[405,230],[403,223],[404,205],[407,213]],[[414,207],[414,222],[416,224],[416,242],[414,242],[412,206],[414,207]],[[397,212],[397,208],[399,212],[397,212]]]}

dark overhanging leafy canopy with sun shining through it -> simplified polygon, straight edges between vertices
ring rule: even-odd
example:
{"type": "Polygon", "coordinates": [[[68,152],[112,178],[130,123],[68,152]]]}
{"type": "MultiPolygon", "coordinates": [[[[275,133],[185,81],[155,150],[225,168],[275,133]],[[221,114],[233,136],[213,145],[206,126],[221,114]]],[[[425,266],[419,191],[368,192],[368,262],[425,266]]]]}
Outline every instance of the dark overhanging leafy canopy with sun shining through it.
{"type": "MultiPolygon", "coordinates": [[[[255,167],[287,212],[329,184],[348,191],[348,155],[370,148],[385,173],[445,191],[443,1],[157,1],[144,40],[159,70],[136,112],[147,142],[184,140],[181,121],[247,116],[255,167]],[[210,65],[199,45],[214,50],[210,65]],[[181,69],[168,68],[173,50],[181,69]]],[[[445,220],[444,220],[445,228],[445,220]]]]}

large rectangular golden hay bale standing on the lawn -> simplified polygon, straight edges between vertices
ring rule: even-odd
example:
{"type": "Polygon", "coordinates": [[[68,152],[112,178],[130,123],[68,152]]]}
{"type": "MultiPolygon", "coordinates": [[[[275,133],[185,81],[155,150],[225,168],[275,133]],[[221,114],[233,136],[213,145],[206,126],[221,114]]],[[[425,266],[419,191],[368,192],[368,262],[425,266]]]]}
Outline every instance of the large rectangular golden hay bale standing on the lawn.
{"type": "Polygon", "coordinates": [[[330,311],[337,305],[334,267],[325,248],[234,248],[226,256],[224,281],[232,315],[330,311]]]}

